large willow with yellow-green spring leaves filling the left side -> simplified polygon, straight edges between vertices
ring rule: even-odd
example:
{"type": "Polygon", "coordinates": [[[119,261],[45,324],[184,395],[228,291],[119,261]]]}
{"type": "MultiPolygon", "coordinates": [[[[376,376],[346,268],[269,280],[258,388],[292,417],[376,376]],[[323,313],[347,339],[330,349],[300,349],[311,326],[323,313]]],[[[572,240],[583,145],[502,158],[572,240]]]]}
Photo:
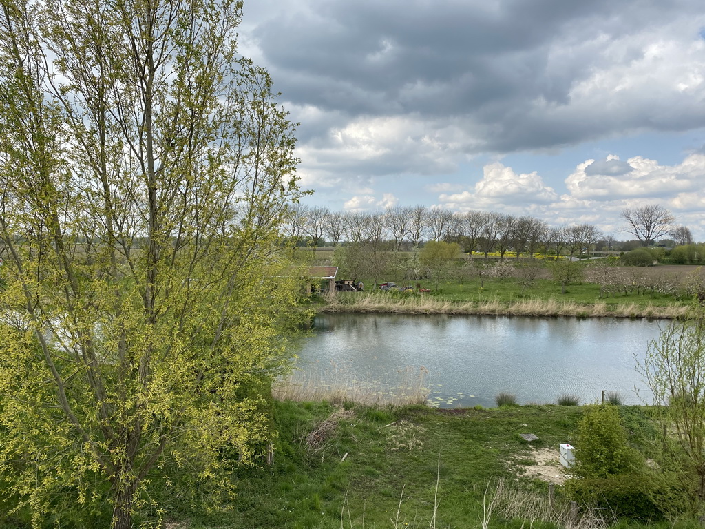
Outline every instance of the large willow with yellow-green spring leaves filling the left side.
{"type": "Polygon", "coordinates": [[[3,505],[152,523],[271,435],[293,126],[238,1],[0,5],[3,505]]]}

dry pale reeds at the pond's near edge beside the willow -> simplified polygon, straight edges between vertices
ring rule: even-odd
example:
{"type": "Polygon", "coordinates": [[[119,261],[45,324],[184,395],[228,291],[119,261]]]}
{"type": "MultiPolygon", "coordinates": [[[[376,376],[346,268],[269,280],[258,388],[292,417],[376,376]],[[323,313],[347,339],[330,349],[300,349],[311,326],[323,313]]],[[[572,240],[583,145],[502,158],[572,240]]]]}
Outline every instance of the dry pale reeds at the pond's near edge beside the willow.
{"type": "Polygon", "coordinates": [[[280,401],[354,402],[365,406],[426,403],[430,393],[426,367],[405,367],[397,374],[396,384],[390,385],[378,381],[364,382],[354,373],[341,369],[328,370],[322,376],[317,372],[300,370],[276,382],[272,394],[280,401]]]}

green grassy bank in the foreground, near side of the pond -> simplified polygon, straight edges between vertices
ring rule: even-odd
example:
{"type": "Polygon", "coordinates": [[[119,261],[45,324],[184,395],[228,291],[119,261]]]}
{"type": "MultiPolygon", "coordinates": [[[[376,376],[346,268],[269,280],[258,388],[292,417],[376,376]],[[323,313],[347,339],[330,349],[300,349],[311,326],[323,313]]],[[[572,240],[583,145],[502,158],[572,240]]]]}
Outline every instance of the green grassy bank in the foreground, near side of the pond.
{"type": "MultiPolygon", "coordinates": [[[[644,408],[620,409],[638,444],[644,408]]],[[[533,473],[540,460],[549,478],[561,475],[558,444],[572,441],[581,414],[580,407],[560,406],[437,410],[279,402],[274,466],[240,468],[229,511],[206,515],[175,504],[171,526],[565,527],[560,486],[551,507],[548,483],[533,473]],[[529,444],[524,433],[538,439],[529,444]]],[[[589,521],[572,526],[595,527],[589,521]]]]}

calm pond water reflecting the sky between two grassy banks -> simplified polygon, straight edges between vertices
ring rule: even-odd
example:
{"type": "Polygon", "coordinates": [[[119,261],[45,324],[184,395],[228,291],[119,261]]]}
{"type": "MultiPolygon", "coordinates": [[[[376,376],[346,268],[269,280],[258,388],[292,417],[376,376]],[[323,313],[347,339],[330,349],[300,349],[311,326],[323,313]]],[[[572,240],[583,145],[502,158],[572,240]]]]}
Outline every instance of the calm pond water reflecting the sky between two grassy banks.
{"type": "Polygon", "coordinates": [[[407,370],[428,370],[429,403],[495,406],[500,392],[520,403],[558,396],[625,403],[648,399],[636,360],[666,323],[618,318],[517,316],[320,315],[298,367],[321,384],[355,377],[394,387],[407,370]],[[641,390],[641,396],[636,389],[641,390]]]}

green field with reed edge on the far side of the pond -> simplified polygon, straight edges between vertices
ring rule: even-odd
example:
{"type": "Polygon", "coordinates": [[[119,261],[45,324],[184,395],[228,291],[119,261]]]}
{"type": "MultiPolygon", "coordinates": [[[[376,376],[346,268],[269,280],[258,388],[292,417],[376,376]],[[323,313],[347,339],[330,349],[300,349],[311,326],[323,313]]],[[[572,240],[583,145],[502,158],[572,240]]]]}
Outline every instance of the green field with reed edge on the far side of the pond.
{"type": "MultiPolygon", "coordinates": [[[[312,250],[309,250],[309,257],[312,250]]],[[[317,263],[331,262],[331,249],[318,248],[317,263]]],[[[411,253],[400,253],[401,260],[411,253]]],[[[692,305],[693,289],[705,288],[705,270],[693,265],[659,265],[654,267],[619,267],[621,282],[618,288],[601,286],[591,267],[599,260],[582,263],[582,276],[567,281],[565,286],[554,279],[550,264],[506,260],[510,266],[502,277],[488,270],[477,273],[467,262],[485,263],[482,257],[455,260],[440,279],[417,276],[410,279],[401,272],[390,272],[378,278],[362,279],[366,292],[379,296],[338,296],[329,299],[324,310],[358,312],[451,312],[464,314],[517,315],[578,315],[619,317],[679,317],[692,305]],[[409,286],[413,291],[402,293],[379,292],[374,286],[394,281],[409,286]],[[696,283],[697,286],[687,288],[696,283]],[[419,294],[419,291],[422,293],[419,294]]],[[[490,263],[497,260],[490,260],[490,263]]],[[[343,277],[345,269],[341,269],[343,277]]]]}

